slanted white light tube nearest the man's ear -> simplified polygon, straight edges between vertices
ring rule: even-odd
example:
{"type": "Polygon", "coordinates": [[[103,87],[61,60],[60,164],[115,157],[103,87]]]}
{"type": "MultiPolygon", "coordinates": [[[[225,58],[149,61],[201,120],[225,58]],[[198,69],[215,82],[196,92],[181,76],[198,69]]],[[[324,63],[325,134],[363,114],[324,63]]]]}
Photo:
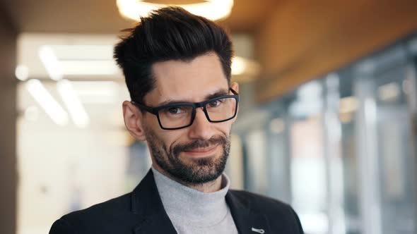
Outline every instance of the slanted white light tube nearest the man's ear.
{"type": "Polygon", "coordinates": [[[78,95],[74,92],[74,88],[69,80],[59,80],[57,82],[57,89],[61,95],[66,108],[68,109],[74,124],[80,128],[84,128],[90,122],[90,118],[81,104],[78,95]]]}

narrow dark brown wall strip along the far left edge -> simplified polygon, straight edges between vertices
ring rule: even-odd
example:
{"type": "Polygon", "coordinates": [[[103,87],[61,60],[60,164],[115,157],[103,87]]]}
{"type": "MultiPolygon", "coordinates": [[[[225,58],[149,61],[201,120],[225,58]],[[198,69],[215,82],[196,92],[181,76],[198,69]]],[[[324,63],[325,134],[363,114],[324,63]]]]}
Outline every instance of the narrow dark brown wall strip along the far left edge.
{"type": "Polygon", "coordinates": [[[0,6],[0,233],[16,233],[16,27],[0,6]]]}

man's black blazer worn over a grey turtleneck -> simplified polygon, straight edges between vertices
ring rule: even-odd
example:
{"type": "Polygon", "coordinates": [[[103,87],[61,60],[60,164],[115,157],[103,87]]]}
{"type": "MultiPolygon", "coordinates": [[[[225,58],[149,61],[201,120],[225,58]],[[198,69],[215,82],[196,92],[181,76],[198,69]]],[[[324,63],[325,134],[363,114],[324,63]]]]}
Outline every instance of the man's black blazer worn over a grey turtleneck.
{"type": "MultiPolygon", "coordinates": [[[[226,202],[239,233],[303,233],[295,211],[275,199],[229,190],[226,202]],[[263,230],[263,231],[262,231],[263,230]]],[[[59,218],[49,234],[177,233],[150,170],[133,192],[59,218]]]]}

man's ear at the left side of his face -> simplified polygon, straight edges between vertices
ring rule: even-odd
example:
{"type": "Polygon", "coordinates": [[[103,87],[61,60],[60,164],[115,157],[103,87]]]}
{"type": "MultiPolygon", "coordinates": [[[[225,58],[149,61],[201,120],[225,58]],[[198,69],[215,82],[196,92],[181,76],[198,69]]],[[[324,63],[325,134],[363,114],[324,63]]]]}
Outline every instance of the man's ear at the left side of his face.
{"type": "Polygon", "coordinates": [[[141,111],[130,101],[123,101],[124,125],[130,135],[139,141],[146,141],[143,131],[143,115],[141,111]]]}

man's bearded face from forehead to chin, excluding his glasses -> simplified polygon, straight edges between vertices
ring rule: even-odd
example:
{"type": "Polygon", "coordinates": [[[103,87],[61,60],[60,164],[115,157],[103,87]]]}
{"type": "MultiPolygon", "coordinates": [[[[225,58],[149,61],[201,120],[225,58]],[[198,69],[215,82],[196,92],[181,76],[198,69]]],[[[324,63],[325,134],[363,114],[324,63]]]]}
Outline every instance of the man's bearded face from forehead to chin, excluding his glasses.
{"type": "MultiPolygon", "coordinates": [[[[146,94],[147,106],[168,101],[198,102],[213,94],[230,94],[216,54],[192,61],[164,61],[153,65],[155,89],[146,94]]],[[[236,83],[231,87],[238,92],[236,83]]],[[[143,131],[157,164],[166,173],[185,183],[206,183],[223,173],[230,151],[230,128],[235,121],[210,123],[202,108],[196,109],[194,123],[178,130],[163,130],[155,115],[145,113],[143,131]]]]}

